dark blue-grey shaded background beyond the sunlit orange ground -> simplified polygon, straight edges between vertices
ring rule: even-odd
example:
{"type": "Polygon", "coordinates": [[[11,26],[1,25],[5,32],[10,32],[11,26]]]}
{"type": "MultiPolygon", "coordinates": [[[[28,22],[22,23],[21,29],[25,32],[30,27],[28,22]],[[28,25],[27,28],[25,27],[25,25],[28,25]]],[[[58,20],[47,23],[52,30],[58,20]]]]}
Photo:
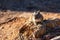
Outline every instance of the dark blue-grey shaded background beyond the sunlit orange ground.
{"type": "Polygon", "coordinates": [[[0,0],[0,10],[60,12],[60,0],[0,0]]]}

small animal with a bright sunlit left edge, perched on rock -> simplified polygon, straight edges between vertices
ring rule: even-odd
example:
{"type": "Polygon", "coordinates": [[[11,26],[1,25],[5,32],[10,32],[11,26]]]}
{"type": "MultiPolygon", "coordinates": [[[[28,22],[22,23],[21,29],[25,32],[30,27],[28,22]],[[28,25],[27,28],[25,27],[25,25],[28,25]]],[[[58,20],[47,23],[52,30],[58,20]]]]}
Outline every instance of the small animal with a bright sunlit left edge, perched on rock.
{"type": "Polygon", "coordinates": [[[36,25],[36,22],[42,22],[43,16],[40,14],[40,11],[35,11],[33,13],[33,23],[36,25]]]}

